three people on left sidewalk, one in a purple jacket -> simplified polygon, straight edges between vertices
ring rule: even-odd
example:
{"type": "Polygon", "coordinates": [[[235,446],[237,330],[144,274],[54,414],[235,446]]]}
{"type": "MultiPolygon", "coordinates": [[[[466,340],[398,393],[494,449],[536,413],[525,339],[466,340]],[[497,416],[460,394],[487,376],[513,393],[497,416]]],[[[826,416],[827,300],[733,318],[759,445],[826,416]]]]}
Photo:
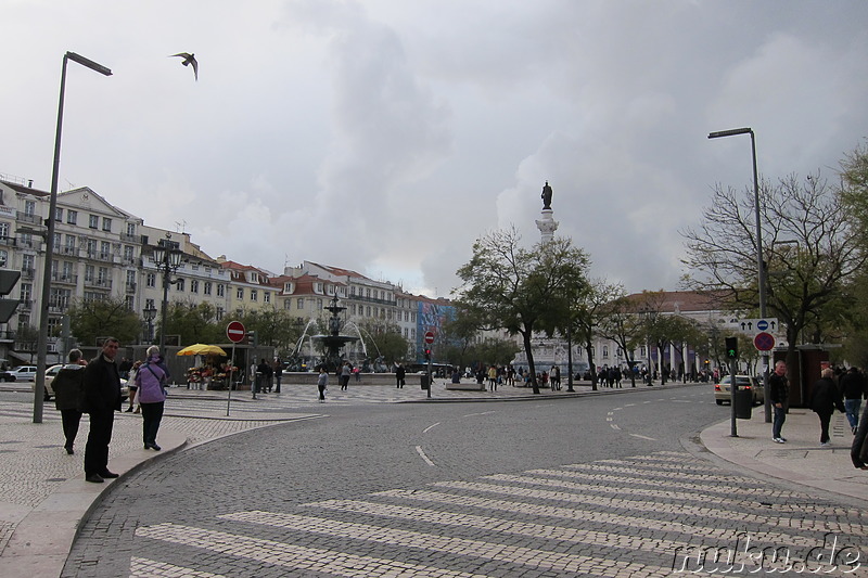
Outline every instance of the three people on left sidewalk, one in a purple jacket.
{"type": "MultiPolygon", "coordinates": [[[[112,441],[114,413],[120,411],[120,369],[115,361],[119,342],[107,337],[100,354],[90,362],[85,361],[79,349],[68,354],[68,363],[52,383],[55,407],[61,412],[64,449],[75,453],[75,438],[82,414],[90,419],[90,431],[85,446],[85,479],[101,484],[118,475],[108,470],[108,445],[112,441]]],[[[142,414],[142,441],[144,449],[159,451],[156,435],[163,419],[166,401],[165,386],[169,378],[163,356],[157,346],[148,348],[144,361],[137,361],[129,370],[129,409],[140,408],[142,414]]]]}

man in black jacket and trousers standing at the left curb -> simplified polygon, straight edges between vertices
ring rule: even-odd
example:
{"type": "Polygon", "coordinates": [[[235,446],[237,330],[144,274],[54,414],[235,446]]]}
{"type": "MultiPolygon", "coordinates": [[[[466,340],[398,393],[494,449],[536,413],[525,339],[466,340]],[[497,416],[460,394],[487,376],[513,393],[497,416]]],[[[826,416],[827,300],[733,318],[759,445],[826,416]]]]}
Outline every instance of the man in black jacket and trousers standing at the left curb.
{"type": "Polygon", "coordinates": [[[115,357],[120,343],[106,337],[102,351],[85,368],[84,411],[90,414],[90,433],[85,447],[85,479],[102,484],[105,478],[117,477],[108,471],[108,444],[115,411],[120,411],[120,372],[115,357]]]}

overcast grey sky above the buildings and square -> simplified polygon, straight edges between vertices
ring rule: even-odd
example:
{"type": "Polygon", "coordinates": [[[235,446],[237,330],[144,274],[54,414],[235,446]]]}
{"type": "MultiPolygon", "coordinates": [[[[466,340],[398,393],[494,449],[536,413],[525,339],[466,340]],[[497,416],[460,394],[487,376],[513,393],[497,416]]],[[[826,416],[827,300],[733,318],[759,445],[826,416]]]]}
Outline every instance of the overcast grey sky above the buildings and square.
{"type": "Polygon", "coordinates": [[[206,253],[449,296],[486,231],[677,288],[716,183],[837,179],[868,136],[868,2],[0,0],[0,174],[90,187],[206,253]],[[194,52],[199,81],[177,52],[194,52]]]}

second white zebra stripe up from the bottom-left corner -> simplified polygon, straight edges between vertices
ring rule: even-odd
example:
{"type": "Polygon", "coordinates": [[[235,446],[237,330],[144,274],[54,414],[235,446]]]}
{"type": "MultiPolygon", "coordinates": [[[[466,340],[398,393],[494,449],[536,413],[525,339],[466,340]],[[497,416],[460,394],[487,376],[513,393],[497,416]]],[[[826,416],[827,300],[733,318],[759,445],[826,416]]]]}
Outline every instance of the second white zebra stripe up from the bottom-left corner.
{"type": "Polygon", "coordinates": [[[478,574],[318,548],[304,548],[275,540],[171,523],[137,528],[136,536],[199,548],[228,556],[255,560],[284,568],[301,569],[310,574],[324,573],[346,578],[376,578],[401,574],[412,575],[413,573],[431,578],[485,578],[478,574]]]}

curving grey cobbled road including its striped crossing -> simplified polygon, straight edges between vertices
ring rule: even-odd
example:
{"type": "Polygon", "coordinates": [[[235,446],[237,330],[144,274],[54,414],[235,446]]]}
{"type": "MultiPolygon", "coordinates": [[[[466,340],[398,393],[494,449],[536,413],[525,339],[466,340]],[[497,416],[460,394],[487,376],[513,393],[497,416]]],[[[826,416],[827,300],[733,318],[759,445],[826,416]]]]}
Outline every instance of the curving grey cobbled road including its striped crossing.
{"type": "Polygon", "coordinates": [[[63,576],[672,576],[727,571],[711,548],[768,569],[763,548],[780,568],[868,535],[859,512],[694,447],[722,418],[706,386],[317,407],[133,474],[63,576]]]}

